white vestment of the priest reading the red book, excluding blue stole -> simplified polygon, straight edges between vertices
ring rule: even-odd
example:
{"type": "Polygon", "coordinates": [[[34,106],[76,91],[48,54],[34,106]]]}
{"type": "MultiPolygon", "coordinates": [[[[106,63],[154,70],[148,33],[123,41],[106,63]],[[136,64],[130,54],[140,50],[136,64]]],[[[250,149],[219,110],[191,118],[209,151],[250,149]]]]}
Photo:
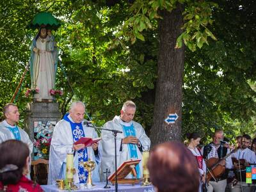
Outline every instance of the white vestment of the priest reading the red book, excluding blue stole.
{"type": "MultiPolygon", "coordinates": [[[[70,116],[68,118],[72,121],[70,116]]],[[[73,122],[73,121],[72,121],[73,122]]],[[[83,122],[82,122],[83,124],[83,122]]],[[[83,125],[83,131],[86,138],[98,138],[98,134],[92,127],[86,127],[83,125]]],[[[67,150],[73,147],[73,135],[72,128],[69,122],[66,120],[60,120],[54,127],[52,134],[50,156],[49,156],[49,175],[48,184],[54,184],[56,179],[65,179],[66,162],[67,162],[67,150]]],[[[99,154],[95,156],[93,148],[87,147],[88,159],[95,162],[95,170],[92,172],[93,182],[99,182],[99,167],[100,167],[100,151],[101,147],[98,146],[99,154]]],[[[78,156],[77,152],[74,157],[74,168],[76,173],[74,175],[74,182],[79,182],[77,173],[78,168],[78,156]]]]}

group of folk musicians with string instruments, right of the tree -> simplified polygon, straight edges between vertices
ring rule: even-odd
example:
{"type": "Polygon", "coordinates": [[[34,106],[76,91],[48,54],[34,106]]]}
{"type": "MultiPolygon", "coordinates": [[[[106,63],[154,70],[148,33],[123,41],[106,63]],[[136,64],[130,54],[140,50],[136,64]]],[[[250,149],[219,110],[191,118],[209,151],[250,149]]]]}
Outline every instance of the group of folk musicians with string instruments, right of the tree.
{"type": "Polygon", "coordinates": [[[200,139],[196,132],[188,134],[188,148],[196,157],[200,171],[199,191],[255,191],[254,185],[246,184],[246,166],[256,164],[255,139],[243,134],[236,137],[234,146],[225,139],[223,131],[216,130],[212,142],[198,148],[200,139]]]}

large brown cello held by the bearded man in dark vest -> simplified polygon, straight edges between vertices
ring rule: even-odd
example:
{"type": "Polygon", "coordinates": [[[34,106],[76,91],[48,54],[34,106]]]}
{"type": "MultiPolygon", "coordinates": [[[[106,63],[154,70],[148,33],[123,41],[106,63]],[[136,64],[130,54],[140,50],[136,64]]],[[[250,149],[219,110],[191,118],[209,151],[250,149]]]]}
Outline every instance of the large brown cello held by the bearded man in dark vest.
{"type": "Polygon", "coordinates": [[[226,170],[225,165],[221,165],[222,162],[224,162],[227,157],[231,156],[231,154],[233,154],[234,152],[236,152],[237,149],[232,150],[229,154],[227,154],[227,156],[218,159],[215,157],[212,157],[210,159],[208,159],[207,161],[205,161],[206,166],[207,166],[207,182],[209,182],[210,179],[216,179],[218,177],[220,177],[226,170]]]}

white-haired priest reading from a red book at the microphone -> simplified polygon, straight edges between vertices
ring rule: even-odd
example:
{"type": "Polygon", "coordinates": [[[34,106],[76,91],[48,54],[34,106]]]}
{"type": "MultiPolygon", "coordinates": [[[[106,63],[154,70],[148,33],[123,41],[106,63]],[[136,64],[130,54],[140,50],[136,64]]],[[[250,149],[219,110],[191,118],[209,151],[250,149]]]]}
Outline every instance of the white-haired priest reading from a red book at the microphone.
{"type": "Polygon", "coordinates": [[[75,183],[86,183],[88,172],[83,168],[83,162],[89,159],[96,166],[92,172],[93,182],[99,182],[100,145],[93,143],[92,147],[84,147],[84,144],[74,145],[81,137],[98,138],[97,132],[92,127],[83,124],[85,106],[83,102],[73,102],[70,113],[66,114],[54,127],[49,156],[48,184],[54,184],[56,179],[65,179],[67,151],[73,148],[75,183]]]}

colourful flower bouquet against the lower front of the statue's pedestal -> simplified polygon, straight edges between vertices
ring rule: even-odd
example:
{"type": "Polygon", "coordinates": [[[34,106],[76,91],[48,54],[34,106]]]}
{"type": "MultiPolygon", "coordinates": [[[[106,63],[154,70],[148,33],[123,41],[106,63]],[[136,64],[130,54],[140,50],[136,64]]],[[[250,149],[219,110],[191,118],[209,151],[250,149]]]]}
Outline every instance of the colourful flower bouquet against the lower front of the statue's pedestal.
{"type": "Polygon", "coordinates": [[[51,145],[51,138],[38,138],[34,142],[35,148],[38,149],[38,152],[42,154],[42,157],[44,159],[49,159],[49,150],[51,145]]]}

